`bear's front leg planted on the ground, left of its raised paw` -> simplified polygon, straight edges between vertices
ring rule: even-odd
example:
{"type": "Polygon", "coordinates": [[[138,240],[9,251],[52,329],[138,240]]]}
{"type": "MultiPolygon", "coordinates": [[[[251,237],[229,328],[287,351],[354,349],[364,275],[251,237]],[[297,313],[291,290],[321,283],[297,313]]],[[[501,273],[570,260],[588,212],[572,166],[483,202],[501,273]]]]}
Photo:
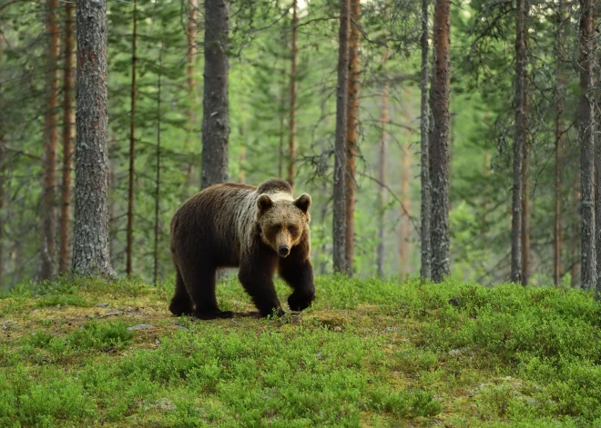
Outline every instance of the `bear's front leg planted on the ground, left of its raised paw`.
{"type": "Polygon", "coordinates": [[[240,262],[239,281],[264,317],[284,314],[273,285],[273,273],[277,263],[276,254],[254,254],[250,260],[240,262]]]}

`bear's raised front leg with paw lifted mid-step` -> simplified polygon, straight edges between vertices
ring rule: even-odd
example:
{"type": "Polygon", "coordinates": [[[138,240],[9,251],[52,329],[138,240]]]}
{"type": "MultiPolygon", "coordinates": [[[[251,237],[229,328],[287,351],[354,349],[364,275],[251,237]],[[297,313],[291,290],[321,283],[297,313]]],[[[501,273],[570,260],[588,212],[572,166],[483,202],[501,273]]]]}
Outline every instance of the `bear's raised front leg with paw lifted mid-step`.
{"type": "Polygon", "coordinates": [[[309,258],[301,252],[295,254],[295,248],[285,259],[280,259],[280,276],[292,287],[288,297],[288,305],[292,311],[302,311],[308,308],[315,299],[315,284],[313,283],[313,266],[309,258]]]}

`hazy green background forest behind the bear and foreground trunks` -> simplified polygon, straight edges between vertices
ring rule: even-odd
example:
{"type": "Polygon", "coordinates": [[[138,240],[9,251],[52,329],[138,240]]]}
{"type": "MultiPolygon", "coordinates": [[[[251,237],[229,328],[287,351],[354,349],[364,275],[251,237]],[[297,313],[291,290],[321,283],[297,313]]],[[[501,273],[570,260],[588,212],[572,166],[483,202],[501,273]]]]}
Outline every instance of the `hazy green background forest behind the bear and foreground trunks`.
{"type": "MultiPolygon", "coordinates": [[[[432,46],[433,5],[425,5],[432,46]]],[[[511,277],[520,5],[528,119],[521,280],[579,286],[587,9],[566,0],[462,0],[450,8],[450,274],[481,284],[511,277]]],[[[373,0],[351,11],[358,54],[351,272],[360,277],[420,274],[422,7],[373,0]]],[[[0,288],[70,267],[74,8],[0,2],[0,288]]],[[[280,176],[296,194],[311,194],[317,274],[333,269],[339,15],[340,4],[327,0],[229,5],[229,181],[280,176]]],[[[171,280],[168,224],[200,188],[204,16],[197,0],[107,2],[110,254],[117,273],[145,282],[171,280]]]]}

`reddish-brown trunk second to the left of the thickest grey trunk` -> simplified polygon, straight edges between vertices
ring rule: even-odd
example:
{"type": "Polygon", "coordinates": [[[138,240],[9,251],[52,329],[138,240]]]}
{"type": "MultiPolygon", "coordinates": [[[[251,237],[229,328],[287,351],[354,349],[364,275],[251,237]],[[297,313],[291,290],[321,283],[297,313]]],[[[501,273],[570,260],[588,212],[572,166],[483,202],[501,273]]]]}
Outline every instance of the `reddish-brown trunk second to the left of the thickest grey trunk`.
{"type": "Polygon", "coordinates": [[[46,73],[46,117],[44,144],[44,194],[42,198],[42,264],[40,278],[48,279],[56,273],[56,150],[58,128],[58,0],[46,1],[46,32],[49,36],[46,73]]]}

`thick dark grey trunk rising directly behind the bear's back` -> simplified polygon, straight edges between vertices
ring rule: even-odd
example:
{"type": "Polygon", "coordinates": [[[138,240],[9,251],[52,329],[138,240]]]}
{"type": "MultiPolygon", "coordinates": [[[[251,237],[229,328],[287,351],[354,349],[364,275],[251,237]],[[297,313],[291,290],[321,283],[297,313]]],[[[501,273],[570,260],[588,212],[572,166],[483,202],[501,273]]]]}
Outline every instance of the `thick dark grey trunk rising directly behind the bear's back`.
{"type": "Polygon", "coordinates": [[[228,181],[229,2],[205,1],[201,188],[228,181]]]}

